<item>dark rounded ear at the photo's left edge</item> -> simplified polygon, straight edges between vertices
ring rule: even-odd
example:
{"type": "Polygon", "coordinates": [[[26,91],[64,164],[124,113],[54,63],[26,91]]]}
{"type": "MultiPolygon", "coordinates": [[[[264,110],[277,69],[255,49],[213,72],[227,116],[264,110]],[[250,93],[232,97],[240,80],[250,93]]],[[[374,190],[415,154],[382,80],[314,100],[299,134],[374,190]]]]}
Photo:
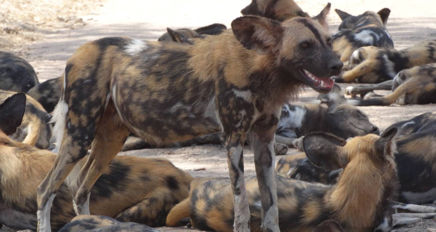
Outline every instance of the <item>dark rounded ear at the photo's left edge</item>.
{"type": "Polygon", "coordinates": [[[5,134],[14,134],[21,125],[26,108],[26,94],[17,93],[0,105],[0,130],[5,134]]]}

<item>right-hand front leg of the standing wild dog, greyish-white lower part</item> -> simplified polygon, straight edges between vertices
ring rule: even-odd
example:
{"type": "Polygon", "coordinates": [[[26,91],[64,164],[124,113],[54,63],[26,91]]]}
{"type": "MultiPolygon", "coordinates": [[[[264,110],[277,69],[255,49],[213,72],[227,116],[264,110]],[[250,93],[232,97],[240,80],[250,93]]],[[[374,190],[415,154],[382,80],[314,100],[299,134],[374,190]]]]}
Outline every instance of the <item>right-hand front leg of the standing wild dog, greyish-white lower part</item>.
{"type": "Polygon", "coordinates": [[[265,232],[280,231],[274,175],[274,133],[278,122],[276,114],[264,115],[252,124],[247,137],[254,152],[254,164],[262,204],[262,230],[265,232]]]}

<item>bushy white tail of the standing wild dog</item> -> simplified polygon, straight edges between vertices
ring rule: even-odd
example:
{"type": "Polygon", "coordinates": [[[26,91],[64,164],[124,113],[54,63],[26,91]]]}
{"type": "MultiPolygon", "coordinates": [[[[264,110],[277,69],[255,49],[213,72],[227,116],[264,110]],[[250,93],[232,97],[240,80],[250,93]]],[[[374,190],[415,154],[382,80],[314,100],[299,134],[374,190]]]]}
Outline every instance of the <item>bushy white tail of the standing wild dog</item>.
{"type": "Polygon", "coordinates": [[[58,102],[53,110],[53,117],[50,123],[55,123],[53,128],[54,134],[54,149],[51,152],[58,153],[62,145],[62,138],[64,137],[65,121],[68,114],[68,104],[63,98],[58,102]]]}

